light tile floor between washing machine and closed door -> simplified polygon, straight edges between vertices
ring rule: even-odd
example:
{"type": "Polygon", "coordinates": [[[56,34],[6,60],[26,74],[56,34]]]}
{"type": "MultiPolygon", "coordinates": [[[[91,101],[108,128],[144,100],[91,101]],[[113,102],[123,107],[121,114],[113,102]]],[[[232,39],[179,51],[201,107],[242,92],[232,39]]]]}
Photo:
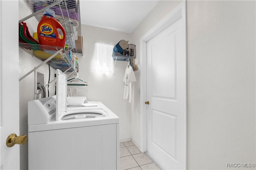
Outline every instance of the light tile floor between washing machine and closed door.
{"type": "Polygon", "coordinates": [[[120,170],[160,170],[132,141],[120,143],[120,170]]]}

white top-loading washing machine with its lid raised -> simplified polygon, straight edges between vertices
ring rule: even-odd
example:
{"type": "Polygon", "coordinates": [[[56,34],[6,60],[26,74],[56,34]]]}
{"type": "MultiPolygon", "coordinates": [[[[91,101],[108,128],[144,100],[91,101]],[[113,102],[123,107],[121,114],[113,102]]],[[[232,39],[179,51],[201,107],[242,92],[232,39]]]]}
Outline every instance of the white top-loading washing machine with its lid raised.
{"type": "Polygon", "coordinates": [[[28,102],[28,169],[119,169],[118,116],[101,102],[67,107],[57,84],[56,96],[28,102]]]}

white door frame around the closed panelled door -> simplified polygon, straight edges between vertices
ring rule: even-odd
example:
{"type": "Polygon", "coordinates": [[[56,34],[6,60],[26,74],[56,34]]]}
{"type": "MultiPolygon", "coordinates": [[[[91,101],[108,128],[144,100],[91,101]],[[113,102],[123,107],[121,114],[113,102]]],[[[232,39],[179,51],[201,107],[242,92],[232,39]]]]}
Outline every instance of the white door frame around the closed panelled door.
{"type": "Polygon", "coordinates": [[[150,29],[142,38],[140,38],[140,150],[141,152],[147,152],[147,107],[145,101],[147,100],[147,41],[153,38],[156,34],[174,23],[178,18],[181,17],[183,27],[183,57],[184,57],[184,122],[185,122],[185,133],[184,133],[184,168],[187,169],[187,44],[186,44],[186,1],[182,1],[174,10],[167,14],[158,24],[150,29]]]}

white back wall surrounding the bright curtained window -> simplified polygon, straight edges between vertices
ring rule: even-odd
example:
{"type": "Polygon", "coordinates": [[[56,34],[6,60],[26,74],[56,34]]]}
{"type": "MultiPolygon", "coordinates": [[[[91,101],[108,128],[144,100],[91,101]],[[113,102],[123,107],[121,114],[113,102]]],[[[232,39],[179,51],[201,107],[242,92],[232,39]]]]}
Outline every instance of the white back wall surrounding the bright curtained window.
{"type": "MultiPolygon", "coordinates": [[[[89,83],[88,88],[78,88],[78,94],[73,96],[86,96],[89,101],[100,101],[105,104],[120,119],[120,141],[131,139],[131,104],[123,99],[124,71],[128,62],[116,61],[114,75],[99,75],[90,72],[94,55],[95,42],[117,44],[120,40],[130,40],[130,34],[82,25],[84,42],[84,56],[77,54],[79,64],[79,78],[89,83]]],[[[130,41],[129,41],[130,43],[130,41]]]]}

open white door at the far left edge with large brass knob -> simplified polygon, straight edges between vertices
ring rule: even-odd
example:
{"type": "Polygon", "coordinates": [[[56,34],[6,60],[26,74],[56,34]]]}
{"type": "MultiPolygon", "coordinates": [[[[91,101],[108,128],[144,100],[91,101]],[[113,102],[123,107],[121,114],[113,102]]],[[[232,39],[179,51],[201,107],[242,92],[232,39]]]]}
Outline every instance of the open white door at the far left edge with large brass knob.
{"type": "Polygon", "coordinates": [[[20,146],[8,148],[9,134],[20,133],[18,1],[0,0],[0,169],[20,169],[20,146]]]}

